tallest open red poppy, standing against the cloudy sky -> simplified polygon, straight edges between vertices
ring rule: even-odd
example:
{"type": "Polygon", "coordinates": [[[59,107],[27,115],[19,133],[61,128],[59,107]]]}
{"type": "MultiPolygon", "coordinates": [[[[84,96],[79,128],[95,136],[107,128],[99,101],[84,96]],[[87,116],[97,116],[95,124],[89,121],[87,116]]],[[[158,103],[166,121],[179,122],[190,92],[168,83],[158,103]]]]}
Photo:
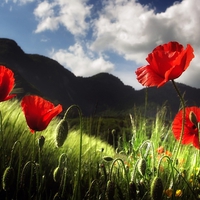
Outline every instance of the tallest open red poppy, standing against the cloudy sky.
{"type": "Polygon", "coordinates": [[[186,49],[178,42],[157,46],[146,58],[149,65],[136,70],[137,80],[144,86],[161,87],[178,78],[193,58],[193,48],[189,44],[186,49]]]}

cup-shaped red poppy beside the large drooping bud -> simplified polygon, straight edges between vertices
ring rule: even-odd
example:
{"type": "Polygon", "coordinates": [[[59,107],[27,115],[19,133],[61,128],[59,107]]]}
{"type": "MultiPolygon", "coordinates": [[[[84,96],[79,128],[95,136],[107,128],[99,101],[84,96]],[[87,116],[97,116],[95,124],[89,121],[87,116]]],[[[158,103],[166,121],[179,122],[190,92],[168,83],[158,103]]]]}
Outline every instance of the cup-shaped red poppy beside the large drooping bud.
{"type": "Polygon", "coordinates": [[[55,107],[51,102],[34,95],[23,97],[21,106],[32,133],[46,129],[50,121],[62,112],[60,104],[55,107]]]}

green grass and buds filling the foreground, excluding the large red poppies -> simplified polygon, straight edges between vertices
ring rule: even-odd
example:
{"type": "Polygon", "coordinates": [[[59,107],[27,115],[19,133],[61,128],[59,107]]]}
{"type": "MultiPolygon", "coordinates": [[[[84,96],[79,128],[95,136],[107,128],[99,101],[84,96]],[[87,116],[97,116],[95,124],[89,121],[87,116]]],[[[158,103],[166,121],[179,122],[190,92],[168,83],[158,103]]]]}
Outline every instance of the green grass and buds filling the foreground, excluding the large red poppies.
{"type": "Polygon", "coordinates": [[[80,126],[80,118],[69,118],[72,128],[58,148],[61,119],[32,134],[18,101],[0,103],[1,199],[200,199],[199,151],[181,145],[175,157],[178,142],[164,106],[155,119],[133,110],[126,126],[110,118],[83,119],[80,126]],[[115,149],[106,142],[108,127],[115,149]],[[41,136],[45,143],[39,151],[41,136]]]}

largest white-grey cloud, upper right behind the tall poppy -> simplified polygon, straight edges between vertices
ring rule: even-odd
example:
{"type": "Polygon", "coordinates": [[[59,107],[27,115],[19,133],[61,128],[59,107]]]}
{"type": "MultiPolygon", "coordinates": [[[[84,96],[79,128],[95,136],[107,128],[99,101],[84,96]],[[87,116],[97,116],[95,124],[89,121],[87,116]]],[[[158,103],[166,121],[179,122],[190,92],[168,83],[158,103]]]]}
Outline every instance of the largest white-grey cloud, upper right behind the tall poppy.
{"type": "Polygon", "coordinates": [[[189,43],[196,57],[178,80],[190,85],[198,84],[195,78],[199,80],[196,74],[200,74],[199,0],[183,0],[158,14],[135,0],[105,2],[93,24],[94,41],[90,47],[93,51],[112,50],[141,66],[147,64],[148,53],[159,44],[173,40],[184,46],[189,43]]]}

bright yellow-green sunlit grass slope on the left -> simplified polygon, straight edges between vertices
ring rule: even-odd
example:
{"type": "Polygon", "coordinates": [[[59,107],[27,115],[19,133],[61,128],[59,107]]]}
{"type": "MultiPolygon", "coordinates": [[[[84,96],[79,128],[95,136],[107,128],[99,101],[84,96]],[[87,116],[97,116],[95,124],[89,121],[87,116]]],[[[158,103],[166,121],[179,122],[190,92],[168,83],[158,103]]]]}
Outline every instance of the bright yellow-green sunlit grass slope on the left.
{"type": "MultiPolygon", "coordinates": [[[[2,175],[5,168],[9,165],[11,150],[16,141],[20,141],[21,144],[22,166],[24,166],[28,161],[31,161],[34,134],[29,131],[18,101],[2,102],[0,107],[2,116],[2,133],[0,143],[1,150],[3,150],[1,151],[2,175]]],[[[36,140],[38,140],[40,136],[45,138],[45,143],[41,151],[41,166],[43,174],[48,174],[48,176],[51,174],[51,178],[48,177],[50,181],[53,179],[52,172],[58,166],[58,160],[62,154],[66,155],[67,162],[65,167],[68,169],[72,180],[78,169],[80,130],[75,129],[69,131],[63,146],[58,148],[56,146],[55,130],[59,121],[60,119],[56,118],[52,120],[46,130],[36,132],[36,140]]],[[[87,169],[88,171],[90,170],[91,174],[97,173],[97,169],[95,169],[97,164],[101,162],[103,156],[113,156],[114,149],[106,142],[103,142],[96,137],[88,136],[86,133],[83,133],[82,140],[82,173],[84,174],[84,169],[87,169]]],[[[36,154],[39,154],[38,143],[36,142],[35,144],[36,154]]],[[[12,163],[15,168],[17,168],[18,165],[19,146],[20,145],[16,147],[13,155],[14,162],[12,163]]],[[[39,158],[36,159],[38,162],[39,158]]]]}

